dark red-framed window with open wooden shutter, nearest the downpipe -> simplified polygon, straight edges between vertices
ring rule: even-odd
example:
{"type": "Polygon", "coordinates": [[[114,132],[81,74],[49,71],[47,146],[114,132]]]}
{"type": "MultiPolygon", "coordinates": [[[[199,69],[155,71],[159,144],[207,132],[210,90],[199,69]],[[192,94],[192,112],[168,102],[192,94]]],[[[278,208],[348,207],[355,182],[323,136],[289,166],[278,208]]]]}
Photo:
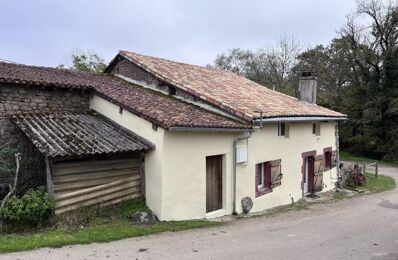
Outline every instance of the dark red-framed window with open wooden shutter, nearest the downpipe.
{"type": "Polygon", "coordinates": [[[281,185],[281,179],[281,160],[256,164],[256,197],[272,192],[274,187],[281,185]]]}

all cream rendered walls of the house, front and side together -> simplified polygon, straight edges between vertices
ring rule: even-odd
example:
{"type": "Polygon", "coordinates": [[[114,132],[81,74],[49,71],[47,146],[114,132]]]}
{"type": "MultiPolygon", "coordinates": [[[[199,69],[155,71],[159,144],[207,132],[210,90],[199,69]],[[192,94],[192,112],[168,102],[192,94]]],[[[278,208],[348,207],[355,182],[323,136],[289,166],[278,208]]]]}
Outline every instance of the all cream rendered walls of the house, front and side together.
{"type": "MultiPolygon", "coordinates": [[[[160,220],[210,218],[232,214],[233,140],[245,133],[177,132],[162,128],[99,97],[91,99],[91,108],[155,144],[145,157],[147,205],[160,220]],[[206,213],[206,156],[223,155],[223,209],[206,213]]],[[[241,199],[253,199],[252,211],[289,204],[302,193],[302,153],[323,149],[336,150],[335,122],[322,122],[321,135],[312,134],[311,122],[289,123],[289,137],[278,137],[277,124],[264,124],[252,137],[238,146],[248,147],[248,161],[237,165],[236,206],[242,212],[241,199]],[[281,159],[282,184],[272,192],[255,197],[255,164],[281,159]]],[[[334,188],[336,167],[323,174],[323,191],[334,188]]]]}

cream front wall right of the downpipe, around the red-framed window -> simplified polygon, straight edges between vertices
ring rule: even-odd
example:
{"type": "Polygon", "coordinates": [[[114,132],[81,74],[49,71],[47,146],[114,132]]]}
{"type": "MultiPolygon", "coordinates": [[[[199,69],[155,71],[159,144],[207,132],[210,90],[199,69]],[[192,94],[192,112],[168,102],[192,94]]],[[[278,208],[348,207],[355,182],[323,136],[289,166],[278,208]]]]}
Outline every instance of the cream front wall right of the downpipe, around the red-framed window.
{"type": "MultiPolygon", "coordinates": [[[[334,122],[322,122],[321,135],[315,136],[312,134],[312,123],[289,123],[289,138],[278,137],[277,124],[265,124],[263,129],[257,129],[248,140],[248,163],[237,166],[237,211],[242,211],[240,200],[245,196],[253,199],[253,211],[300,199],[302,153],[316,150],[319,155],[326,147],[335,150],[335,125],[334,122]],[[282,159],[282,184],[272,192],[255,198],[255,165],[277,159],[282,159]]],[[[323,176],[323,191],[333,189],[337,169],[326,171],[323,176]]]]}

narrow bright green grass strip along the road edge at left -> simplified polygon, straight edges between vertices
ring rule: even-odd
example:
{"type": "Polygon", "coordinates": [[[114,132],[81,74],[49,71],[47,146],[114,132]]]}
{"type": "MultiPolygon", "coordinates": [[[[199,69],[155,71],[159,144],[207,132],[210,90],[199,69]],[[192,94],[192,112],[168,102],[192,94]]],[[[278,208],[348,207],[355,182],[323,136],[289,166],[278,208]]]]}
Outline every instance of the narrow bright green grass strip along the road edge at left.
{"type": "Polygon", "coordinates": [[[73,244],[109,242],[128,237],[138,237],[165,231],[181,231],[217,225],[217,222],[205,220],[159,222],[152,226],[137,226],[127,220],[108,224],[94,225],[76,231],[49,230],[26,234],[0,236],[0,252],[16,252],[41,247],[61,247],[73,244]]]}

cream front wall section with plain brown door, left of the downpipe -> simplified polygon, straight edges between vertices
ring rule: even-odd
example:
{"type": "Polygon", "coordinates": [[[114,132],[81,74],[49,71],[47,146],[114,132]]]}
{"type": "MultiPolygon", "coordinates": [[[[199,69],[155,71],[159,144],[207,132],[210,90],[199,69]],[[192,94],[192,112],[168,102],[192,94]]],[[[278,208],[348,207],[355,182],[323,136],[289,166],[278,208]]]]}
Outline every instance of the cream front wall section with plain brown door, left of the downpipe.
{"type": "Polygon", "coordinates": [[[223,210],[232,213],[232,142],[239,133],[172,132],[164,138],[163,205],[166,220],[206,218],[206,156],[223,156],[223,210]]]}

